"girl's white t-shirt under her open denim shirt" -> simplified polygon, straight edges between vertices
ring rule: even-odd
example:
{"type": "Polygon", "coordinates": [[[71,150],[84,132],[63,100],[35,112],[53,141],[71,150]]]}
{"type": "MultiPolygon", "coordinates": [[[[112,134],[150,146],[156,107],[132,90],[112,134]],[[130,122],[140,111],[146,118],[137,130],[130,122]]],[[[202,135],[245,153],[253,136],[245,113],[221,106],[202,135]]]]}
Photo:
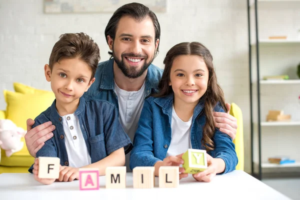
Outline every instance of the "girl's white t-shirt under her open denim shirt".
{"type": "Polygon", "coordinates": [[[191,119],[182,121],[175,112],[174,106],[172,108],[171,120],[171,142],[166,152],[166,157],[170,155],[178,155],[184,153],[188,148],[191,148],[190,129],[191,119]]]}

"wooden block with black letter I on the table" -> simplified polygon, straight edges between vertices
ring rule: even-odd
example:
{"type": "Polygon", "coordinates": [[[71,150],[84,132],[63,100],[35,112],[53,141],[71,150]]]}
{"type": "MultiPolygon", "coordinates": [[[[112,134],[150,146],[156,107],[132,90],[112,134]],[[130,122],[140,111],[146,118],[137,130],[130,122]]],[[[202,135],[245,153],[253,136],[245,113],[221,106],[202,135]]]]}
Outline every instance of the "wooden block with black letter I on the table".
{"type": "Polygon", "coordinates": [[[133,188],[154,187],[154,166],[136,166],[132,170],[133,188]]]}

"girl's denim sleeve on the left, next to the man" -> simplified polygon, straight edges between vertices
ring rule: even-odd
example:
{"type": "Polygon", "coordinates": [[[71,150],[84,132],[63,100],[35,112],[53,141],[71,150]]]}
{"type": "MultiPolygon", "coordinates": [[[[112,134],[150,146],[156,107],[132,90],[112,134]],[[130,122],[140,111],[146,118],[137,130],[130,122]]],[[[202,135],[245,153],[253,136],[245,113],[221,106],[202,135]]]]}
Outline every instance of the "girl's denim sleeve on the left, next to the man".
{"type": "Polygon", "coordinates": [[[160,159],[153,154],[153,121],[149,98],[144,101],[130,154],[130,169],[135,166],[154,166],[160,159]]]}

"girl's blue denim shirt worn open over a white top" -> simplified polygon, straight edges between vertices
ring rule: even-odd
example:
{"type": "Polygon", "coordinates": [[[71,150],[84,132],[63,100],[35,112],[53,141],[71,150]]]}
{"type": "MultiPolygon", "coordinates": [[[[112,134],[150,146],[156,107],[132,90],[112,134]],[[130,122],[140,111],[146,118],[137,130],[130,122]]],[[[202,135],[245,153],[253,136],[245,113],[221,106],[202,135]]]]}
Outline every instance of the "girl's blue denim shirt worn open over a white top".
{"type": "MultiPolygon", "coordinates": [[[[157,161],[165,158],[171,141],[172,105],[173,94],[145,99],[130,153],[131,169],[135,166],[154,166],[157,161]]],[[[192,148],[196,149],[205,149],[201,144],[202,127],[206,120],[203,107],[204,101],[200,100],[192,116],[190,140],[192,148]]],[[[215,106],[214,111],[224,112],[219,104],[215,106]]],[[[207,153],[224,160],[223,173],[234,170],[237,155],[231,138],[215,128],[212,140],[215,148],[207,153]]]]}

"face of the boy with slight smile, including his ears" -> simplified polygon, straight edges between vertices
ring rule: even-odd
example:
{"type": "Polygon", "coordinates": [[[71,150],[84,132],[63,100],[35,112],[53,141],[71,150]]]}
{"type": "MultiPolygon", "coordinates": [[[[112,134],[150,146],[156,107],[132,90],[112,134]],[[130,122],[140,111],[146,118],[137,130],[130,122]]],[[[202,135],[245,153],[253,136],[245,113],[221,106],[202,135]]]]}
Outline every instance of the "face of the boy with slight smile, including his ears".
{"type": "Polygon", "coordinates": [[[91,77],[90,67],[79,58],[65,58],[55,62],[50,70],[44,66],[47,81],[51,81],[51,89],[55,94],[56,103],[60,105],[74,104],[90,87],[95,78],[91,77]]]}

